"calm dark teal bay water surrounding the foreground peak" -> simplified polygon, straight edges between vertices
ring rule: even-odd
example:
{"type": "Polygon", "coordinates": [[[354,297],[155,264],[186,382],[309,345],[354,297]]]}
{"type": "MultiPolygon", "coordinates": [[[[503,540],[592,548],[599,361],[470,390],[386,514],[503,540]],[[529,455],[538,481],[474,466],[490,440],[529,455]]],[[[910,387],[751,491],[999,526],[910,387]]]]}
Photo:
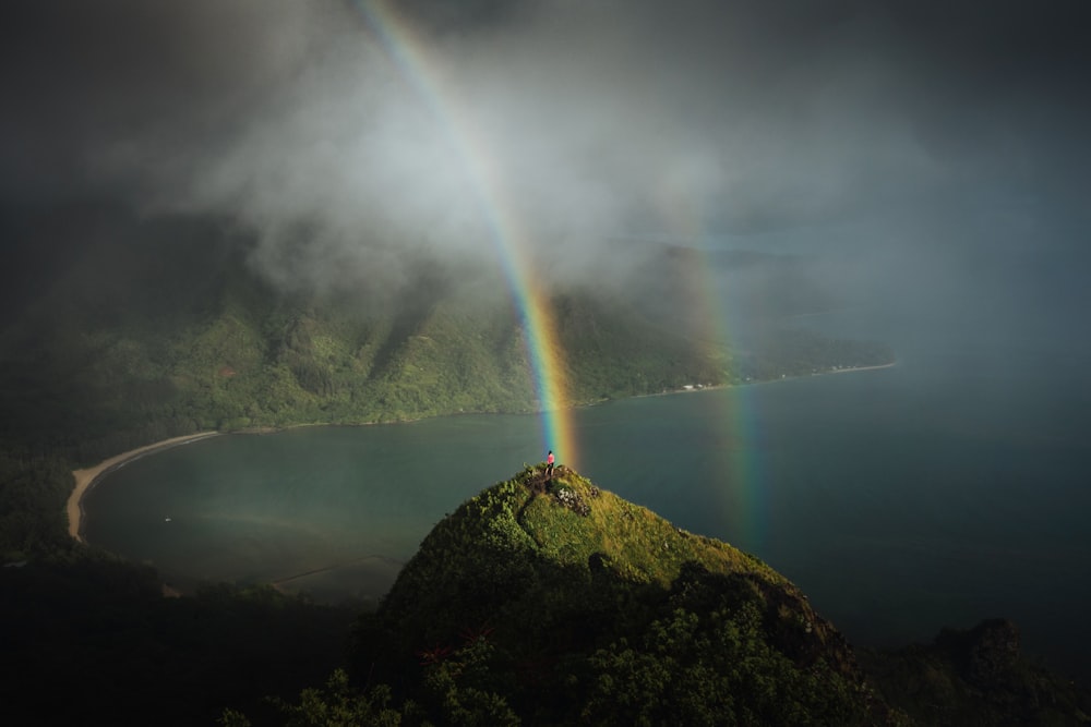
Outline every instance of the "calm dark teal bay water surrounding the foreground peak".
{"type": "MultiPolygon", "coordinates": [[[[1086,678],[1086,356],[958,335],[898,348],[894,368],[582,410],[579,469],[762,557],[851,641],[1006,616],[1086,678]]],[[[375,598],[444,513],[543,458],[533,416],[224,436],[112,474],[85,533],[181,586],[375,598]]]]}

